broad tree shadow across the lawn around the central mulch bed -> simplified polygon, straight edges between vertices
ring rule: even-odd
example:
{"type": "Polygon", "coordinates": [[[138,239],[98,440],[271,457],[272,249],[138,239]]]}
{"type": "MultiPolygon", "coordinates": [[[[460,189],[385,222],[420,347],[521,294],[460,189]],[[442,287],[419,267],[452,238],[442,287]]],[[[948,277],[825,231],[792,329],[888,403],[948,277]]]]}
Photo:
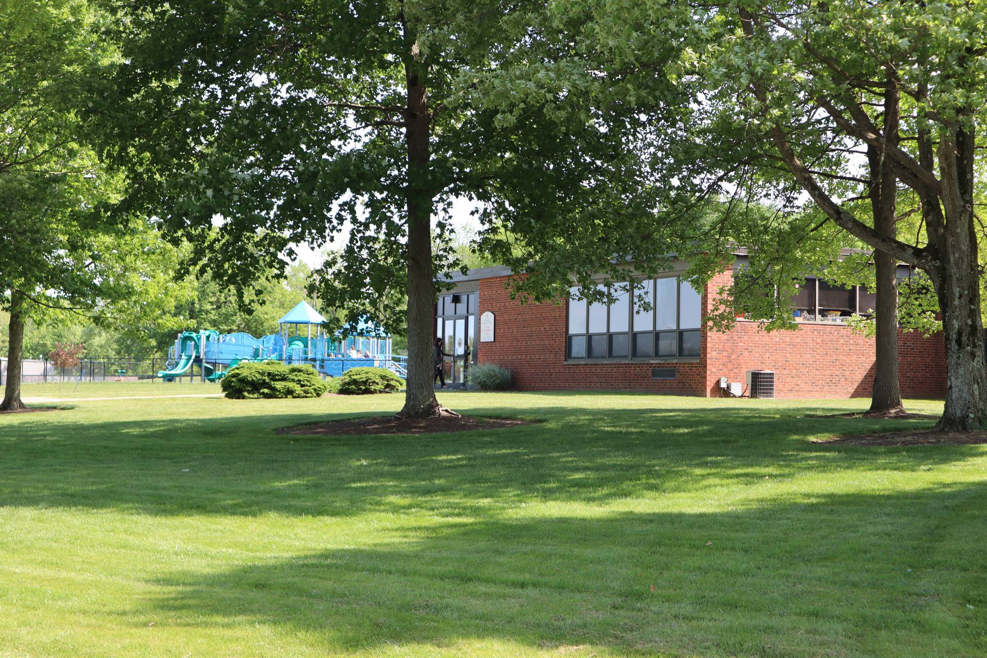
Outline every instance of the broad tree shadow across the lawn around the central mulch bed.
{"type": "Polygon", "coordinates": [[[306,437],[273,430],[366,414],[239,416],[224,408],[196,419],[71,423],[38,414],[0,438],[0,496],[12,506],[159,515],[350,516],[414,508],[455,516],[524,501],[604,503],[756,486],[766,476],[777,481],[809,471],[912,472],[983,454],[975,446],[810,445],[805,436],[820,426],[840,434],[931,424],[799,417],[813,407],[460,408],[544,422],[456,434],[306,437]]]}

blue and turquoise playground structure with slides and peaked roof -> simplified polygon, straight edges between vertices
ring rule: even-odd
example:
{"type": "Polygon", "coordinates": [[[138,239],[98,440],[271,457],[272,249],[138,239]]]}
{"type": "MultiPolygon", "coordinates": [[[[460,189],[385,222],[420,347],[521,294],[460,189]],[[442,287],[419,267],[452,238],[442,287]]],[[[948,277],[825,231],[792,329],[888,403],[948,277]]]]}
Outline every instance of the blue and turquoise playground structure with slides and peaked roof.
{"type": "Polygon", "coordinates": [[[215,382],[243,361],[273,360],[287,365],[307,363],[328,377],[369,366],[386,368],[407,379],[407,360],[392,353],[391,336],[383,329],[361,319],[330,336],[323,329],[325,322],[318,311],[302,301],[277,321],[277,333],[260,338],[212,329],[183,331],[169,348],[168,367],[158,372],[158,377],[174,382],[192,376],[197,365],[202,381],[215,382]]]}

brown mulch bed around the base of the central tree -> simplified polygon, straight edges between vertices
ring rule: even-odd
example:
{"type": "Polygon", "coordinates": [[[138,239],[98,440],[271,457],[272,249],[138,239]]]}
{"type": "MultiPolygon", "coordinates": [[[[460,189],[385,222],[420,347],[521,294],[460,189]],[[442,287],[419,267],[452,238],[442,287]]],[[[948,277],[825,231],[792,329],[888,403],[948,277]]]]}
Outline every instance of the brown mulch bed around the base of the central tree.
{"type": "Polygon", "coordinates": [[[354,434],[432,434],[435,432],[465,432],[472,429],[500,429],[530,425],[531,420],[518,418],[482,418],[478,416],[440,415],[430,418],[395,418],[370,416],[330,420],[310,425],[294,425],[277,430],[278,434],[319,436],[349,436],[354,434]]]}

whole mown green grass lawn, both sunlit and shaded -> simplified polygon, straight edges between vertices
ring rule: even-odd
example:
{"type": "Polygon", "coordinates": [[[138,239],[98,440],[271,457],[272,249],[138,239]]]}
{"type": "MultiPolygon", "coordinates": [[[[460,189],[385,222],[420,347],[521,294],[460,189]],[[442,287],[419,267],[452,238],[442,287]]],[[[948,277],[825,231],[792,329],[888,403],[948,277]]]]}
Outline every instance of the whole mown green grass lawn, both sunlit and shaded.
{"type": "Polygon", "coordinates": [[[544,422],[271,431],[401,396],[0,416],[0,656],[987,655],[987,446],[807,441],[932,424],[810,417],[866,401],[442,400],[544,422]]]}

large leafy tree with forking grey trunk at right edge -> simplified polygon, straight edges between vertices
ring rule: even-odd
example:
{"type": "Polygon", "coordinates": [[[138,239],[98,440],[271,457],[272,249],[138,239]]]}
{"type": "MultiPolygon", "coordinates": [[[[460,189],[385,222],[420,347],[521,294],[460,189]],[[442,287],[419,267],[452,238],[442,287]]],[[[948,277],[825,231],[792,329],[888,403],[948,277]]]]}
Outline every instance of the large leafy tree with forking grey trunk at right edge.
{"type": "MultiPolygon", "coordinates": [[[[987,118],[987,7],[959,0],[586,4],[601,62],[660,69],[693,99],[681,145],[694,159],[662,154],[678,166],[682,198],[744,190],[741,198],[763,202],[796,184],[802,196],[780,207],[811,202],[879,255],[886,319],[894,260],[921,269],[943,315],[949,384],[938,427],[987,424],[973,213],[975,142],[987,118]],[[625,47],[669,38],[684,44],[674,60],[625,47]],[[895,180],[920,203],[924,235],[916,241],[899,239],[888,223],[895,180]],[[870,201],[863,212],[861,201],[870,201]]],[[[558,10],[571,11],[569,4],[558,10]]],[[[717,236],[729,235],[723,225],[717,236]]],[[[890,335],[878,340],[882,352],[890,335]]]]}

